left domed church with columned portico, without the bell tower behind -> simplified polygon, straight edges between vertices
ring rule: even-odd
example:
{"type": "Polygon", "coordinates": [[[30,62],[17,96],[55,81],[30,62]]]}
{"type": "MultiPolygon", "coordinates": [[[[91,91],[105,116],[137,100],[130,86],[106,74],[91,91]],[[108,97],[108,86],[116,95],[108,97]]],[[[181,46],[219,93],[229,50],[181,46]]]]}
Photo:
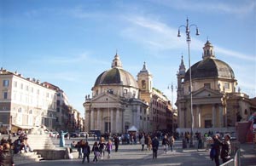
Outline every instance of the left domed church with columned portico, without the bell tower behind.
{"type": "Polygon", "coordinates": [[[140,100],[137,80],[123,69],[119,54],[111,68],[96,78],[91,98],[85,98],[84,111],[86,131],[125,133],[132,126],[148,131],[148,103],[140,100]]]}

